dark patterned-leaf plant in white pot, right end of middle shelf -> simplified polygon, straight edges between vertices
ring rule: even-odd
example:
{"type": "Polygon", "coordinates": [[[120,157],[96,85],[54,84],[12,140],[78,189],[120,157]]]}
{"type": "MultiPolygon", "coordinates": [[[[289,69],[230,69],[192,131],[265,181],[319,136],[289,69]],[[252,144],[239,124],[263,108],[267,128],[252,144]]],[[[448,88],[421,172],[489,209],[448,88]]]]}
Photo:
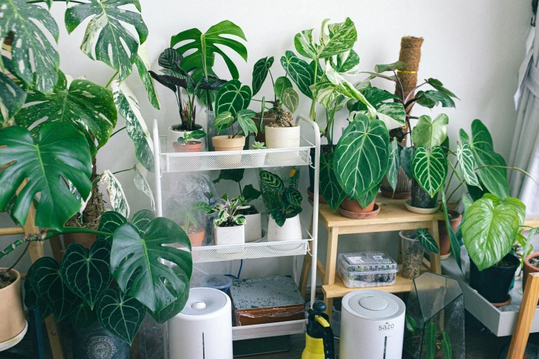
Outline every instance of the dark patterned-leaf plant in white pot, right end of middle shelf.
{"type": "MultiPolygon", "coordinates": [[[[291,176],[292,177],[292,176],[291,176]]],[[[276,201],[268,223],[268,242],[296,241],[302,239],[302,194],[274,173],[260,171],[260,181],[274,193],[276,201]]]]}

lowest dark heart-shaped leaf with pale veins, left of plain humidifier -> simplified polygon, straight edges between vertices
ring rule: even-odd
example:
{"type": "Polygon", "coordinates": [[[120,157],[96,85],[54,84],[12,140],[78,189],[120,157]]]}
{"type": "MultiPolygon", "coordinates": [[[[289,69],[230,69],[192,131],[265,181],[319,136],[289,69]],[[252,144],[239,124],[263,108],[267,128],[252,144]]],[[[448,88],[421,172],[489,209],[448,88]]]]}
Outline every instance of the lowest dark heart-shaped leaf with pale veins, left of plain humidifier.
{"type": "Polygon", "coordinates": [[[133,342],[145,316],[144,305],[119,290],[107,289],[99,297],[97,305],[99,324],[129,345],[133,342]]]}

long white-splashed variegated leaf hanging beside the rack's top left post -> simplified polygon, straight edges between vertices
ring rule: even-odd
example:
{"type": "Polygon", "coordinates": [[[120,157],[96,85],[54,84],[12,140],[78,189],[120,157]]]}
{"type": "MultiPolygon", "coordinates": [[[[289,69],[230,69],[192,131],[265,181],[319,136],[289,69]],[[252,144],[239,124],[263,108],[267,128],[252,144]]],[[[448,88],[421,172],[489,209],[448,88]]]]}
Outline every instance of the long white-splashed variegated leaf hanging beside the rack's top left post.
{"type": "Polygon", "coordinates": [[[120,116],[125,118],[127,135],[135,146],[135,155],[138,162],[148,171],[154,172],[154,141],[146,126],[138,100],[127,85],[127,82],[112,83],[114,103],[120,116]]]}

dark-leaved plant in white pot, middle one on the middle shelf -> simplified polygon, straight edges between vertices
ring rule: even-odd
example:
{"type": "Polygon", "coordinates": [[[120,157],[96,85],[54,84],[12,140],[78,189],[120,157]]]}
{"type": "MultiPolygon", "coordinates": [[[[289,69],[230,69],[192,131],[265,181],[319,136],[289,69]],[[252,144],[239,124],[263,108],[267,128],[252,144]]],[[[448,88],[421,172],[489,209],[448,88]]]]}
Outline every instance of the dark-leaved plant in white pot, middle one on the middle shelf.
{"type": "Polygon", "coordinates": [[[245,241],[260,241],[262,239],[262,217],[260,211],[251,204],[251,202],[260,197],[260,191],[254,188],[252,184],[248,184],[242,188],[241,182],[244,171],[244,168],[221,170],[219,177],[213,180],[213,183],[217,184],[222,179],[228,179],[237,183],[237,186],[240,188],[240,202],[249,205],[248,208],[242,208],[237,211],[237,214],[245,217],[245,241]]]}

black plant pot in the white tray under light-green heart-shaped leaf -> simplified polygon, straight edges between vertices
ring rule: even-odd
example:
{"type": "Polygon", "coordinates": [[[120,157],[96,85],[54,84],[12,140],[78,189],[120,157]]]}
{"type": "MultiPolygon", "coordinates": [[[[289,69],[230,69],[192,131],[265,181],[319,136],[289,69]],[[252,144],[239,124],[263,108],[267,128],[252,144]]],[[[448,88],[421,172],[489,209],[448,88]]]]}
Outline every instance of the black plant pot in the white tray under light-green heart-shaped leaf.
{"type": "Polygon", "coordinates": [[[502,261],[511,263],[511,267],[498,267],[479,271],[473,261],[469,261],[469,285],[477,290],[483,298],[490,303],[504,303],[507,301],[509,287],[515,278],[515,272],[520,265],[520,259],[509,253],[502,261]]]}

